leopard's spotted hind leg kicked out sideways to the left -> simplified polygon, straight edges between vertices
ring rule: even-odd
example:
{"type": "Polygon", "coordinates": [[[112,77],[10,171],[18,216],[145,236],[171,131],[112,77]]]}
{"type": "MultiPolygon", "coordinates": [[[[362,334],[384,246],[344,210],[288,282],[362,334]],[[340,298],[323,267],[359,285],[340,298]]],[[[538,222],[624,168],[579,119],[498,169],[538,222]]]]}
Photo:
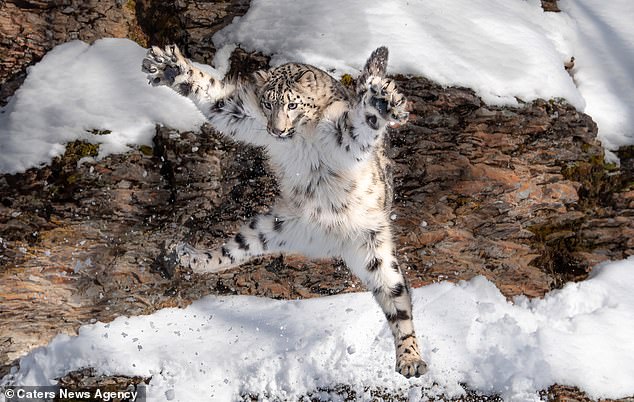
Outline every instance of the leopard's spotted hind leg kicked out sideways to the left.
{"type": "Polygon", "coordinates": [[[265,254],[300,251],[310,228],[297,218],[273,209],[251,218],[232,238],[214,250],[199,250],[189,244],[176,247],[180,265],[196,273],[219,272],[265,254]]]}

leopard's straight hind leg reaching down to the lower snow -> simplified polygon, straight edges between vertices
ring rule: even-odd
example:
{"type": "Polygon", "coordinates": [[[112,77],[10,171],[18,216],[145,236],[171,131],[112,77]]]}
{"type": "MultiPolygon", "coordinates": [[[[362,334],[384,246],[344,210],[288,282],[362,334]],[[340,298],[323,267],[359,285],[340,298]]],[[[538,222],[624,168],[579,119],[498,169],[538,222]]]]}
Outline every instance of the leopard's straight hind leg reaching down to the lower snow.
{"type": "Polygon", "coordinates": [[[405,377],[427,372],[414,324],[410,288],[394,254],[389,230],[372,231],[367,242],[344,253],[348,267],[372,291],[394,336],[396,371],[405,377]]]}

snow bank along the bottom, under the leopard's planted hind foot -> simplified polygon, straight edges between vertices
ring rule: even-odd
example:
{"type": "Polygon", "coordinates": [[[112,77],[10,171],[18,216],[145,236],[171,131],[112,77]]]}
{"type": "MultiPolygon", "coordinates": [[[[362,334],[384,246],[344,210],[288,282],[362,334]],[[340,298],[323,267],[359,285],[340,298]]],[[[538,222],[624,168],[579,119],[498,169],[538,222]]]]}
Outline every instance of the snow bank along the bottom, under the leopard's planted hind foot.
{"type": "Polygon", "coordinates": [[[336,384],[413,399],[459,396],[460,383],[507,401],[538,400],[537,391],[554,383],[591,398],[634,394],[634,257],[596,267],[590,279],[543,299],[509,302],[476,277],[415,289],[413,300],[430,364],[419,379],[393,371],[391,334],[365,292],[301,301],[208,296],[185,309],[85,325],[23,357],[0,384],[45,385],[92,366],[152,376],[151,401],[247,393],[292,400],[336,384]]]}

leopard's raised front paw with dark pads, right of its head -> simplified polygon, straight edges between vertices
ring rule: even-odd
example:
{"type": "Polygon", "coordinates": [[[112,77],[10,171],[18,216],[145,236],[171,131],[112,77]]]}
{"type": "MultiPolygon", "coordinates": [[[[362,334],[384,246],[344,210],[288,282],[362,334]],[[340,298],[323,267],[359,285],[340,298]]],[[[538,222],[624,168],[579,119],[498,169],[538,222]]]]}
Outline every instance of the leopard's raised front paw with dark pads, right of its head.
{"type": "Polygon", "coordinates": [[[368,78],[367,85],[363,102],[367,109],[366,122],[370,127],[379,128],[379,119],[391,124],[407,122],[409,112],[406,98],[396,89],[393,80],[372,76],[368,78]]]}

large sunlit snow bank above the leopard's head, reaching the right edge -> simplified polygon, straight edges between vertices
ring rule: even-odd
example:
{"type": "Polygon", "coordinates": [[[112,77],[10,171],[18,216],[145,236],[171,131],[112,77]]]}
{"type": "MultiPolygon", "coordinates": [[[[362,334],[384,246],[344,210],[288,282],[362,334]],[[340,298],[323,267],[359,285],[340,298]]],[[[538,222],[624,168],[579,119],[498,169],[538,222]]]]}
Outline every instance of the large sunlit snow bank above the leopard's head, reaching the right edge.
{"type": "Polygon", "coordinates": [[[598,123],[605,148],[634,144],[634,2],[253,0],[214,35],[336,75],[356,74],[370,52],[390,49],[390,73],[472,88],[490,104],[565,98],[598,123]],[[575,80],[564,63],[575,57],[575,80]],[[576,84],[576,85],[575,85],[576,84]]]}

